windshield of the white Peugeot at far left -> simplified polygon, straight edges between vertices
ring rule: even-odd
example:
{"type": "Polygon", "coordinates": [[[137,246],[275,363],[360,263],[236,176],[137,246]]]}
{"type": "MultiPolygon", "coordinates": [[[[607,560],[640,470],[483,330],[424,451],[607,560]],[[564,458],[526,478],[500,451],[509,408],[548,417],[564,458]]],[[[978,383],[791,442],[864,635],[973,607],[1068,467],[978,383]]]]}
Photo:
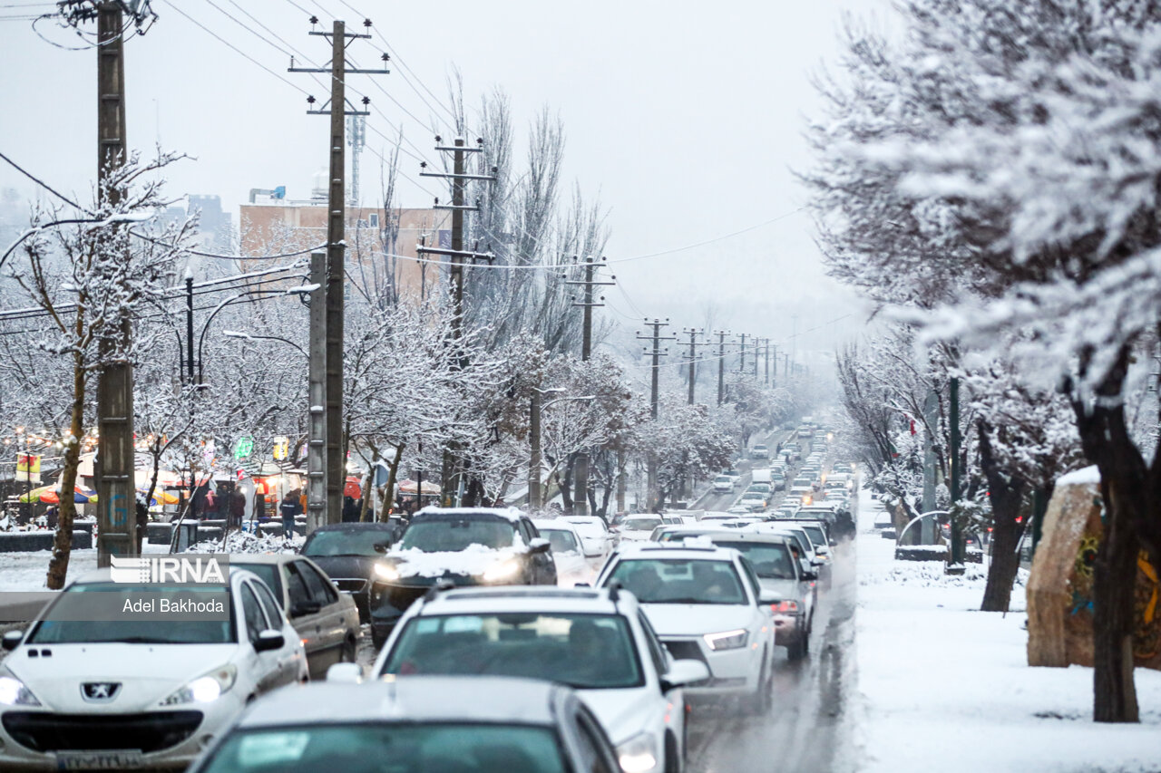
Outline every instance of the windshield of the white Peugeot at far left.
{"type": "MultiPolygon", "coordinates": [[[[216,591],[226,594],[224,586],[199,586],[199,592],[216,591]]],[[[137,601],[143,594],[165,594],[173,599],[182,598],[182,594],[190,593],[189,585],[161,585],[158,583],[85,583],[68,587],[62,598],[58,599],[45,613],[44,620],[36,624],[29,635],[29,644],[103,644],[123,642],[127,644],[226,644],[237,641],[233,634],[233,605],[229,600],[225,605],[230,608],[230,620],[186,620],[158,622],[156,620],[117,620],[110,622],[109,617],[102,620],[68,620],[74,616],[74,600],[70,598],[64,602],[64,597],[73,597],[78,593],[107,593],[113,597],[110,605],[107,598],[102,598],[101,607],[124,608],[125,604],[137,601]]],[[[93,597],[87,597],[93,598],[93,597]]],[[[203,597],[204,599],[204,597],[203,597]]],[[[199,599],[199,600],[203,600],[199,599]]],[[[95,599],[94,599],[95,600],[95,599]]],[[[93,617],[99,617],[100,613],[89,601],[85,605],[93,609],[93,617]]]]}

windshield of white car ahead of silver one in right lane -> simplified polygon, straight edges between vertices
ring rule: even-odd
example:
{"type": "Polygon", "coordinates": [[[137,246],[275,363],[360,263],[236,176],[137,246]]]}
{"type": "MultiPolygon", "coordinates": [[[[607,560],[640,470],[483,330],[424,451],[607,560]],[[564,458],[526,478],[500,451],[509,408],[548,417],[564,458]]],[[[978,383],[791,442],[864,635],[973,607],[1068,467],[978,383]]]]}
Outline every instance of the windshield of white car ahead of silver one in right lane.
{"type": "Polygon", "coordinates": [[[729,561],[629,558],[616,564],[610,581],[642,604],[745,604],[737,570],[729,561]]]}

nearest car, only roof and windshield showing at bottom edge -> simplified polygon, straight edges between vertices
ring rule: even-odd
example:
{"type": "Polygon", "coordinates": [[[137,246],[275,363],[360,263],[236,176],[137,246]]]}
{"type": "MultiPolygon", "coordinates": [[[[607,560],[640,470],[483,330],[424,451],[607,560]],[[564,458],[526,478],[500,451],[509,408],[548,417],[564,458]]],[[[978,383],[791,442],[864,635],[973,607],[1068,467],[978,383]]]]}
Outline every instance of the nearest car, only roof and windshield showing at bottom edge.
{"type": "Polygon", "coordinates": [[[412,677],[258,701],[188,773],[618,771],[576,693],[549,681],[412,677]]]}

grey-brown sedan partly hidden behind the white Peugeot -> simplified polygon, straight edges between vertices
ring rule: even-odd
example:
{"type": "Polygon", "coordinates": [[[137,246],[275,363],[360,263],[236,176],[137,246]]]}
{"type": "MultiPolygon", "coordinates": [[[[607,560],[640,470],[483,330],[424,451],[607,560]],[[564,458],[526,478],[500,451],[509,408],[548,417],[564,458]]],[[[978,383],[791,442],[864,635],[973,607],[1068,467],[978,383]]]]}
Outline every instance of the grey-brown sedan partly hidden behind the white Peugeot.
{"type": "Polygon", "coordinates": [[[322,679],[336,663],[354,663],[359,609],[347,593],[304,556],[243,554],[230,565],[251,571],[274,592],[307,650],[310,678],[322,679]]]}

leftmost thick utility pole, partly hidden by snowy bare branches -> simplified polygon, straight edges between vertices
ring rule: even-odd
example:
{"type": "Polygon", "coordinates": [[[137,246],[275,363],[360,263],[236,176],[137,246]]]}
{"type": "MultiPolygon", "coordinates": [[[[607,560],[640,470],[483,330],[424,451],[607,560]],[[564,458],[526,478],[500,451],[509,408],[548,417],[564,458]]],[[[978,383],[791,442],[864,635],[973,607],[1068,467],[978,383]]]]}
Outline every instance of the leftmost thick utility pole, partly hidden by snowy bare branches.
{"type": "MultiPolygon", "coordinates": [[[[101,204],[116,207],[121,190],[109,178],[128,158],[125,140],[124,20],[121,2],[96,6],[96,124],[98,190],[101,204]]],[[[124,259],[128,261],[129,257],[124,259]]],[[[98,536],[96,565],[108,566],[111,556],[137,554],[136,497],[134,493],[134,369],[109,362],[120,347],[128,352],[132,330],[128,317],[118,323],[120,341],[102,338],[102,367],[96,381],[98,536]]]]}

